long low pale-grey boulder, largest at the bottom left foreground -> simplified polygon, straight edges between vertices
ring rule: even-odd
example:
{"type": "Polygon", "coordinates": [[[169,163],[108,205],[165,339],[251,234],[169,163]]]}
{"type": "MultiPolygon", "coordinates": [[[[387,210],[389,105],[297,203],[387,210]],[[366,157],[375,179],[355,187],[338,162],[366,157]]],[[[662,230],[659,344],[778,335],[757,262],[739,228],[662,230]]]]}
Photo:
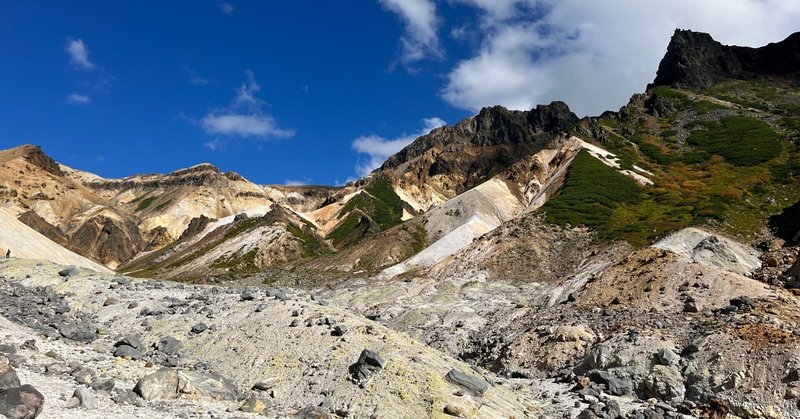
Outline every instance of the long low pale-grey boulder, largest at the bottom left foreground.
{"type": "Polygon", "coordinates": [[[181,396],[236,400],[239,396],[236,386],[219,375],[169,368],[142,377],[133,391],[145,400],[177,399],[181,396]]]}

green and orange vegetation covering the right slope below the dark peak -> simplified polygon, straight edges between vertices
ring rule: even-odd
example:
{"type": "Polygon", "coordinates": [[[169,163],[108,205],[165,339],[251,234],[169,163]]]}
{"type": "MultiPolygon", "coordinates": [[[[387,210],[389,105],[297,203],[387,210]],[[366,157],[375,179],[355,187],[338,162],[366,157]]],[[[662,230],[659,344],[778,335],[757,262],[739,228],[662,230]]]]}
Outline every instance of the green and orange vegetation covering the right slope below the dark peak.
{"type": "MultiPolygon", "coordinates": [[[[651,92],[670,100],[675,111],[654,116],[629,108],[617,124],[602,124],[616,136],[606,136],[600,145],[616,153],[624,168],[637,165],[652,172],[648,177],[655,184],[640,187],[642,195],[636,202],[619,197],[608,204],[607,193],[614,190],[608,181],[576,186],[576,171],[571,169],[561,195],[543,208],[548,221],[587,225],[601,238],[634,245],[647,245],[671,231],[700,224],[749,241],[770,216],[800,200],[796,86],[737,80],[698,92],[771,113],[759,118],[752,117],[751,110],[693,99],[666,87],[651,92]],[[724,109],[725,116],[718,121],[697,120],[715,109],[724,109]]],[[[580,176],[579,167],[577,173],[580,176]]]]}

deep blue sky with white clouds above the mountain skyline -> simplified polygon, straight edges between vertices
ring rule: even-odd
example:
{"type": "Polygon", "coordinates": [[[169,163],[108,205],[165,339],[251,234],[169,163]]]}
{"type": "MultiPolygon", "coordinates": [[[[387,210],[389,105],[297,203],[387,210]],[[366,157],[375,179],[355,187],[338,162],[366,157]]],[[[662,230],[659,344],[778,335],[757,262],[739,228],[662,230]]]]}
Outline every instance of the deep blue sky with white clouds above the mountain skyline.
{"type": "Polygon", "coordinates": [[[0,147],[105,177],[210,162],[341,184],[482,106],[617,109],[675,27],[760,45],[800,17],[733,2],[0,1],[0,147]]]}

